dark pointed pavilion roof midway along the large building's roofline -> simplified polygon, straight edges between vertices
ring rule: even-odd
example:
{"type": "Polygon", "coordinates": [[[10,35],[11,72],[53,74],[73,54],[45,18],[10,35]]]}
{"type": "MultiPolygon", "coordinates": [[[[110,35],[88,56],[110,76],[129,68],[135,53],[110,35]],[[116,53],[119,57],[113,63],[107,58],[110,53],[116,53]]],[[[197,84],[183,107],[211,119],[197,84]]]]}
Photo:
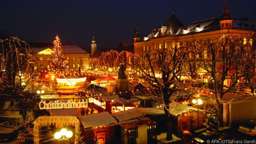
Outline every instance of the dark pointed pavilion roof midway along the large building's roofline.
{"type": "Polygon", "coordinates": [[[184,24],[182,24],[174,14],[171,15],[164,25],[167,27],[165,34],[168,34],[169,32],[171,34],[177,34],[180,27],[184,27],[184,24]]]}

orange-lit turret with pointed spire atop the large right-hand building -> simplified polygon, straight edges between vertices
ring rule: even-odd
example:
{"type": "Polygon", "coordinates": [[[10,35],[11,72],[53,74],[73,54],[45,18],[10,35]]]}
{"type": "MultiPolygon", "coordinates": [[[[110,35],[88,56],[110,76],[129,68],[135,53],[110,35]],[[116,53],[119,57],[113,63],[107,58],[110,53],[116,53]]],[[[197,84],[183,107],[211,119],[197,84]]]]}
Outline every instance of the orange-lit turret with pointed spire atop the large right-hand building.
{"type": "Polygon", "coordinates": [[[222,19],[219,21],[220,23],[220,29],[232,29],[232,22],[231,17],[229,15],[229,7],[226,4],[225,0],[225,7],[222,10],[222,19]]]}

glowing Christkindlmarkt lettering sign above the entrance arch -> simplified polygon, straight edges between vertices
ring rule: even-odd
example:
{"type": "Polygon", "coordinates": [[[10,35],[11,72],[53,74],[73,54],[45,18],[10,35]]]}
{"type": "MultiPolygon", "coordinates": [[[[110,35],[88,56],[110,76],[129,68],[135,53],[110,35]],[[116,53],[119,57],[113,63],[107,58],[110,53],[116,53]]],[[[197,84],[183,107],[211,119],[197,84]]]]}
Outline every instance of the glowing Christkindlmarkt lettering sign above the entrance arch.
{"type": "Polygon", "coordinates": [[[40,110],[51,109],[70,109],[70,108],[86,108],[88,107],[87,100],[54,100],[50,102],[40,101],[40,110]]]}

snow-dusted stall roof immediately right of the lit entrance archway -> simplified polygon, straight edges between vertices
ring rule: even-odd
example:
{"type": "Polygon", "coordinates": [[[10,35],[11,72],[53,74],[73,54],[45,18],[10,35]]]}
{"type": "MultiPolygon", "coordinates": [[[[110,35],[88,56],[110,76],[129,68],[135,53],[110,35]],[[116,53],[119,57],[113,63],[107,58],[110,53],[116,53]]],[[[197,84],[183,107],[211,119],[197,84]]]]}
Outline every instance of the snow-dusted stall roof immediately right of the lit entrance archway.
{"type": "Polygon", "coordinates": [[[108,112],[78,116],[78,119],[83,124],[84,129],[117,124],[116,119],[108,112]]]}

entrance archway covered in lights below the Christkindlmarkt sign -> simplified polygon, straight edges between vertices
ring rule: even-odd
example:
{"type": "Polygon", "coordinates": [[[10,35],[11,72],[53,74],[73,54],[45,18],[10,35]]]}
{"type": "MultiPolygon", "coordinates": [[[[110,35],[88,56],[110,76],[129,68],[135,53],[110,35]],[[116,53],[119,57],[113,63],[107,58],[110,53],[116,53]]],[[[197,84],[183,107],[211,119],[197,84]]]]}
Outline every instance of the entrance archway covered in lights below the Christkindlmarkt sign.
{"type": "Polygon", "coordinates": [[[71,124],[75,126],[75,144],[78,138],[77,133],[80,130],[80,121],[76,116],[40,116],[34,121],[34,144],[39,144],[39,125],[46,125],[51,123],[57,123],[59,125],[71,124]]]}

